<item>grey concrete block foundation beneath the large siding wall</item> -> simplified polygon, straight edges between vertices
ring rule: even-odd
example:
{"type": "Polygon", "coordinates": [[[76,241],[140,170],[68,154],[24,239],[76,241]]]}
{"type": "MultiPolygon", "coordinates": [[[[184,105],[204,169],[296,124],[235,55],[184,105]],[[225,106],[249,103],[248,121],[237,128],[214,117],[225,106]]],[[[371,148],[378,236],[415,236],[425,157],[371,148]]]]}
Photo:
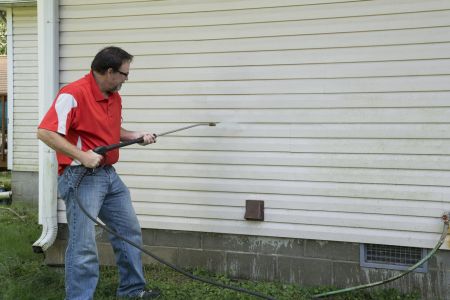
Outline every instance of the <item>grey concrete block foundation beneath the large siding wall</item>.
{"type": "MultiPolygon", "coordinates": [[[[58,239],[46,255],[50,265],[64,264],[67,226],[60,224],[58,239]]],[[[107,233],[98,229],[100,261],[114,265],[107,233]]],[[[399,271],[363,268],[359,244],[233,234],[144,229],[146,248],[183,268],[202,267],[231,277],[280,281],[300,286],[350,287],[383,280],[399,271]]],[[[156,263],[144,256],[144,263],[156,263]]],[[[439,251],[427,273],[412,273],[384,288],[420,291],[423,299],[450,300],[450,251],[439,251]]]]}

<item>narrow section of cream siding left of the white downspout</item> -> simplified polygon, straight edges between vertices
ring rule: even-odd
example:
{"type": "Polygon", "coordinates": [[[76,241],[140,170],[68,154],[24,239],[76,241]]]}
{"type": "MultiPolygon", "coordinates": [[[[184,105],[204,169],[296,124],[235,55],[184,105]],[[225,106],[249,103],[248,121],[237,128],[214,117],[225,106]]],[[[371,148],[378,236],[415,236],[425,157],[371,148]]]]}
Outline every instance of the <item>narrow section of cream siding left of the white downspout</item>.
{"type": "Polygon", "coordinates": [[[38,171],[37,9],[13,7],[13,170],[38,171]]]}

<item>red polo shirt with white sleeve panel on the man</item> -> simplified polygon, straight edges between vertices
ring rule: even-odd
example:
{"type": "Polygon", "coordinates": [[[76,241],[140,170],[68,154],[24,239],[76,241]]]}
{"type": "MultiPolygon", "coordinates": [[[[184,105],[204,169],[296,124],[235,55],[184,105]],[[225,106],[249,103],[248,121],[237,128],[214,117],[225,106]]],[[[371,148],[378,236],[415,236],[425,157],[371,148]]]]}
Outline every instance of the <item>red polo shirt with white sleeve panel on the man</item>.
{"type": "MultiPolygon", "coordinates": [[[[120,142],[122,99],[115,92],[105,99],[92,71],[83,78],[63,87],[39,128],[62,134],[78,149],[87,151],[98,146],[120,142]]],[[[77,160],[56,153],[58,173],[69,165],[80,165],[77,160]]],[[[104,164],[119,159],[119,149],[105,155],[104,164]]]]}

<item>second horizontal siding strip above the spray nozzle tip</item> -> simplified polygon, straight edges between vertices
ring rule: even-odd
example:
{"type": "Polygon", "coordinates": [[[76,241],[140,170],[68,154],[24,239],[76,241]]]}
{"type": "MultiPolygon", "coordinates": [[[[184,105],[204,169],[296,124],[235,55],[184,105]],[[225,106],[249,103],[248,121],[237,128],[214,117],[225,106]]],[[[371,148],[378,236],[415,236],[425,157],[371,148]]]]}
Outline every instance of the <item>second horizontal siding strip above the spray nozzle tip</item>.
{"type": "MultiPolygon", "coordinates": [[[[378,94],[282,94],[282,95],[166,95],[125,96],[125,109],[283,109],[283,108],[386,108],[448,107],[449,92],[395,92],[378,94]]],[[[124,121],[133,122],[132,119],[124,121]]],[[[198,121],[198,120],[196,120],[198,121]]]]}

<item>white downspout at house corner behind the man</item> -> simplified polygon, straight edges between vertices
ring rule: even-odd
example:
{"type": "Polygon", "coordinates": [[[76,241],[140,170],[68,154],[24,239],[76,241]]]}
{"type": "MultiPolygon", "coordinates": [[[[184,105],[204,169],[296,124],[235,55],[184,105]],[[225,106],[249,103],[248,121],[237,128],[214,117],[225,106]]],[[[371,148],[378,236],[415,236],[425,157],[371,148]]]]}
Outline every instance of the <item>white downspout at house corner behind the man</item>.
{"type": "MultiPolygon", "coordinates": [[[[38,0],[39,120],[42,120],[59,90],[58,0],[38,0]]],[[[58,232],[57,162],[55,152],[39,142],[39,223],[41,237],[34,252],[46,251],[58,232]]]]}

